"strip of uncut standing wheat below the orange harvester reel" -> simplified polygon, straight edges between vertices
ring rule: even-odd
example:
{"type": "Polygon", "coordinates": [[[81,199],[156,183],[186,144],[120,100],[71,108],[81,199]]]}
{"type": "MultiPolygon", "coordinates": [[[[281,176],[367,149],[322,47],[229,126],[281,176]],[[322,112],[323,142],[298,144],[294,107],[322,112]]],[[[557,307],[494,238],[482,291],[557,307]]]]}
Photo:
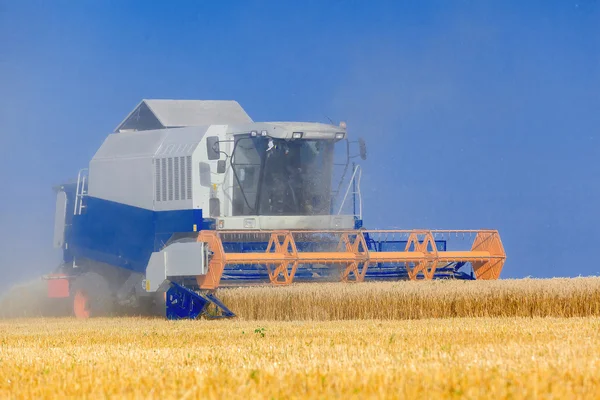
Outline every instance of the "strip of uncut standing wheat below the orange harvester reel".
{"type": "Polygon", "coordinates": [[[314,283],[217,295],[256,320],[600,316],[600,278],[314,283]]]}

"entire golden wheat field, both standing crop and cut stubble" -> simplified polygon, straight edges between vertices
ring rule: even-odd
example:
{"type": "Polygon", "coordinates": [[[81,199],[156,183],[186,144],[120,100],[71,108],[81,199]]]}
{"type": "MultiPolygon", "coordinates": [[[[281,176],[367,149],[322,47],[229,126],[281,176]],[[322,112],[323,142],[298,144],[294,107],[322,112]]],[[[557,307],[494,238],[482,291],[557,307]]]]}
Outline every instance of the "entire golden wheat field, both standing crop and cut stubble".
{"type": "Polygon", "coordinates": [[[236,319],[0,319],[0,398],[600,399],[599,278],[218,296],[236,319]]]}

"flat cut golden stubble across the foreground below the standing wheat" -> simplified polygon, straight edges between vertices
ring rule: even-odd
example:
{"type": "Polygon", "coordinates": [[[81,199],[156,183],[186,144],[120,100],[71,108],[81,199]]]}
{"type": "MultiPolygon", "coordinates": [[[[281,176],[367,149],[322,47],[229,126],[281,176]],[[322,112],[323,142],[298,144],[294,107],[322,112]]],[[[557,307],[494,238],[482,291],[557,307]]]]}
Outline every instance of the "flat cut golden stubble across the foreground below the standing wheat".
{"type": "Polygon", "coordinates": [[[600,319],[0,321],[0,398],[600,396],[600,319]]]}

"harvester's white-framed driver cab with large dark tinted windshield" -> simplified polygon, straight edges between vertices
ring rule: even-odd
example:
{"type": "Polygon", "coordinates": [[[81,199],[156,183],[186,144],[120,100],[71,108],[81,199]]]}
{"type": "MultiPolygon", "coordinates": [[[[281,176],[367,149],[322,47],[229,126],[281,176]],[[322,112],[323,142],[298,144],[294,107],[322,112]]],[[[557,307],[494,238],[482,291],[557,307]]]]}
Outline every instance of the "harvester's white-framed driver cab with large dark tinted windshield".
{"type": "Polygon", "coordinates": [[[232,125],[207,138],[217,173],[202,168],[211,174],[216,228],[352,229],[354,216],[332,213],[334,149],[345,137],[340,126],[277,122],[232,125]]]}

